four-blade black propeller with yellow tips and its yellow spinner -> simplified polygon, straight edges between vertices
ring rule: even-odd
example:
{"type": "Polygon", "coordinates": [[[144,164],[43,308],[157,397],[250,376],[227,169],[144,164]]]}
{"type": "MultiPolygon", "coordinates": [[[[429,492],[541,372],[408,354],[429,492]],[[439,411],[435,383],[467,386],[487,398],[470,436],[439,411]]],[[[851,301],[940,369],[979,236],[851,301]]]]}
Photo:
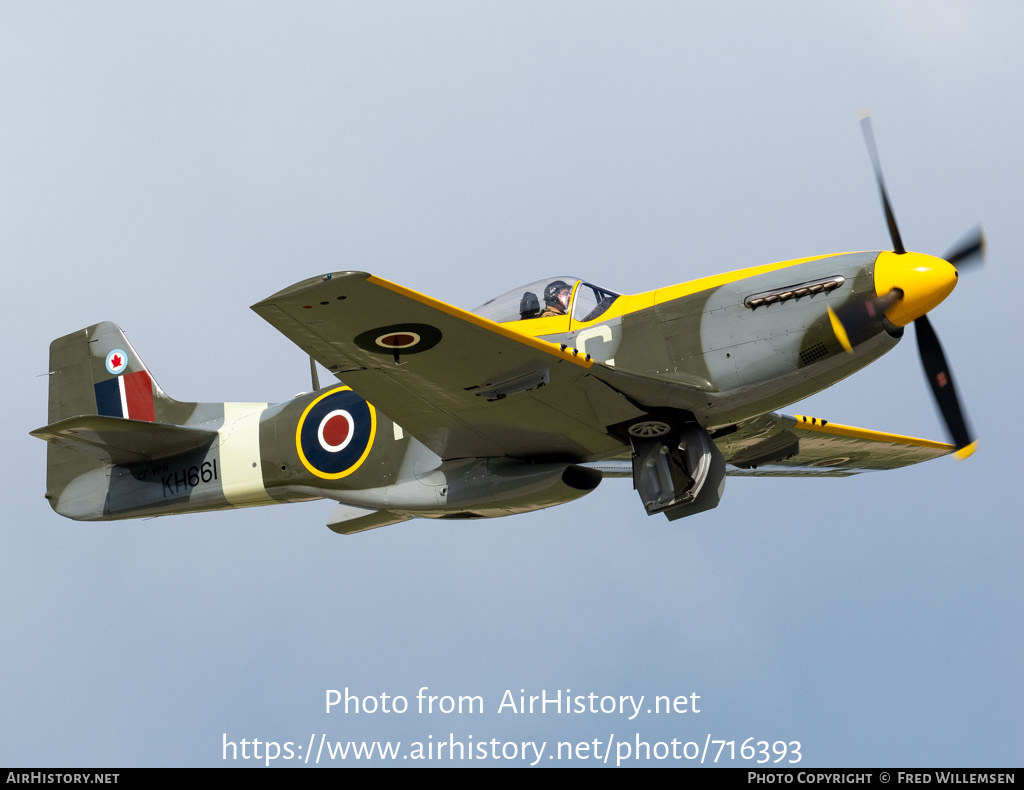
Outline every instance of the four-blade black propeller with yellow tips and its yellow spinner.
{"type": "Polygon", "coordinates": [[[967,458],[975,451],[978,443],[968,427],[949,364],[927,314],[956,287],[957,266],[978,263],[984,259],[985,234],[979,227],[947,252],[944,258],[907,252],[882,176],[871,119],[863,110],[860,113],[860,125],[874,167],[893,251],[880,253],[874,262],[873,298],[845,304],[838,310],[828,308],[833,331],[843,347],[852,352],[854,345],[877,331],[883,316],[896,326],[913,323],[918,351],[935,403],[956,446],[956,457],[967,458]]]}

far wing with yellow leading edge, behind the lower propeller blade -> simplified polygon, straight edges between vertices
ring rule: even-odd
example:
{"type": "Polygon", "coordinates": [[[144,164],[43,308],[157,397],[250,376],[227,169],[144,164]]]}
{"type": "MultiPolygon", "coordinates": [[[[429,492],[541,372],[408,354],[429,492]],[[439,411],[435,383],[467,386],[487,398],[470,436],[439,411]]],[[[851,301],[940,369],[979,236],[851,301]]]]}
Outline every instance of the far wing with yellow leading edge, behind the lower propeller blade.
{"type": "Polygon", "coordinates": [[[948,455],[942,442],[884,433],[816,417],[765,414],[716,440],[728,473],[755,477],[846,477],[948,455]]]}

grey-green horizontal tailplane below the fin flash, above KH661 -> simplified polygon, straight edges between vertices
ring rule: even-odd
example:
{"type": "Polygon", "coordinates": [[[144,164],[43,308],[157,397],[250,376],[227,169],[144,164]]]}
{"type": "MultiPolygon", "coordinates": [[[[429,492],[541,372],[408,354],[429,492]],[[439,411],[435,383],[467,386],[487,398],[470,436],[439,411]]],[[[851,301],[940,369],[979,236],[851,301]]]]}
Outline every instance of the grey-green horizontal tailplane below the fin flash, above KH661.
{"type": "Polygon", "coordinates": [[[108,463],[126,464],[197,450],[216,439],[217,431],[163,422],[86,415],[69,417],[36,428],[32,435],[108,463]]]}

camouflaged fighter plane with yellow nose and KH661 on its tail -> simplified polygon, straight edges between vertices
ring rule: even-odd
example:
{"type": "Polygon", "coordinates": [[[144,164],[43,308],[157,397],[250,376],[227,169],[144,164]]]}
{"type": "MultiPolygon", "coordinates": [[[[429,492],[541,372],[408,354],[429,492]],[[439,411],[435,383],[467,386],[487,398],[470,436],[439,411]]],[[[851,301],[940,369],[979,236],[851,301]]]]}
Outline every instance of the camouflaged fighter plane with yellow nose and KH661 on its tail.
{"type": "Polygon", "coordinates": [[[100,521],[325,498],[350,534],[569,502],[629,476],[648,514],[716,507],[727,475],[843,476],[976,443],[927,314],[984,254],[900,238],[620,294],[577,277],[464,310],[362,272],[304,280],[253,309],[310,358],[287,403],[175,401],[116,325],[50,345],[46,498],[100,521]],[[777,410],[893,348],[914,324],[952,444],[777,410]],[[338,383],[321,387],[316,363],[338,383]]]}

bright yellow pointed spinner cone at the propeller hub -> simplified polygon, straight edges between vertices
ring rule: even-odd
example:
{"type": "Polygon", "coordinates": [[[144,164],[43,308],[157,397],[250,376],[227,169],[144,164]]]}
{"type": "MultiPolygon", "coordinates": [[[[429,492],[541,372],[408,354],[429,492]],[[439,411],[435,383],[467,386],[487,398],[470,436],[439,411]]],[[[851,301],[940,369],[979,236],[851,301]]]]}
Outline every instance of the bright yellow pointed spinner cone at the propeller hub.
{"type": "Polygon", "coordinates": [[[874,292],[879,296],[894,288],[903,292],[903,298],[886,310],[886,318],[900,327],[945,299],[956,287],[956,277],[952,263],[921,252],[880,252],[874,260],[874,292]]]}

